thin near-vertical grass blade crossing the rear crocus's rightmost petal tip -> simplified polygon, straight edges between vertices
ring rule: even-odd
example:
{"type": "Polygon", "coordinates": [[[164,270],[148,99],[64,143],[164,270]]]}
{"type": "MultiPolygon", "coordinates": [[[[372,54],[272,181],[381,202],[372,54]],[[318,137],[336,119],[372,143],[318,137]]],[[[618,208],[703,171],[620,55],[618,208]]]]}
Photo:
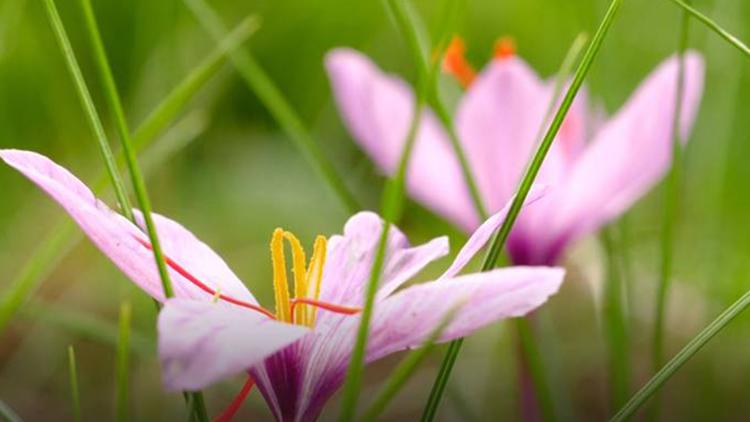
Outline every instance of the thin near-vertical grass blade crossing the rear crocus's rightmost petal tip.
{"type": "MultiPolygon", "coordinates": [[[[652,338],[651,368],[656,372],[664,364],[664,324],[667,313],[669,288],[672,281],[672,266],[674,258],[674,231],[677,223],[680,202],[680,174],[682,170],[682,139],[680,135],[680,120],[682,116],[682,100],[685,85],[685,50],[687,50],[690,16],[687,11],[682,13],[680,22],[678,52],[680,64],[677,71],[677,85],[675,94],[675,113],[672,119],[672,166],[667,174],[665,187],[665,206],[661,233],[661,260],[659,270],[659,284],[656,291],[656,312],[654,317],[654,332],[652,338]]],[[[659,419],[659,400],[655,398],[654,406],[649,414],[650,420],[659,419]]]]}

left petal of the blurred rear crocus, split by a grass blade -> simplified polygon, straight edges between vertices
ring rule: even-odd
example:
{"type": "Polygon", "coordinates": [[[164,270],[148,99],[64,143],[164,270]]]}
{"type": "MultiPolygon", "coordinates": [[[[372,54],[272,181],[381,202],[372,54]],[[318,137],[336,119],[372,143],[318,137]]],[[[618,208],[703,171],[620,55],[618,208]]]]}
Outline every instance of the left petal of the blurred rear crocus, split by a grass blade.
{"type": "MultiPolygon", "coordinates": [[[[328,53],[326,68],[339,111],[354,139],[392,175],[407,138],[414,94],[401,79],[384,74],[351,49],[328,53]]],[[[429,110],[421,116],[407,187],[415,199],[459,226],[468,229],[477,224],[458,160],[429,110]]]]}

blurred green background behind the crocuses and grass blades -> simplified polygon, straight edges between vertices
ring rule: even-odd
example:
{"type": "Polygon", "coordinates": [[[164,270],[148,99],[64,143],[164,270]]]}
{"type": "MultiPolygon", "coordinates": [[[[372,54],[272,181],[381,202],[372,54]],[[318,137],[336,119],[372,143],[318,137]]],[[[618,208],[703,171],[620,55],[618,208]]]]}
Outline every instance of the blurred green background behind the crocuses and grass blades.
{"type": "MultiPolygon", "coordinates": [[[[78,2],[58,2],[84,76],[107,124],[102,91],[83,32],[78,2]]],[[[494,40],[514,37],[518,53],[542,75],[558,68],[575,36],[591,34],[604,0],[467,0],[458,33],[480,67],[494,40]]],[[[415,2],[428,27],[443,1],[415,2]]],[[[750,4],[696,0],[697,8],[740,38],[750,37],[750,4]]],[[[245,48],[256,56],[299,112],[325,155],[347,176],[367,208],[376,209],[383,179],[352,142],[331,101],[322,59],[336,46],[353,46],[408,80],[414,68],[402,37],[379,0],[213,1],[228,26],[257,14],[262,27],[245,48]]],[[[179,0],[94,2],[115,77],[135,127],[214,43],[179,0]]],[[[666,0],[628,0],[597,58],[587,86],[609,113],[677,45],[680,12],[666,0]]],[[[705,94],[686,152],[670,303],[671,355],[750,287],[750,63],[692,22],[691,46],[707,61],[705,94]]],[[[446,81],[447,82],[447,81],[446,81]]],[[[317,233],[340,230],[346,213],[301,158],[242,79],[226,65],[183,113],[190,141],[150,172],[155,209],[175,218],[219,251],[256,292],[271,300],[267,244],[278,226],[310,244],[317,233]]],[[[0,147],[46,154],[93,183],[103,165],[76,96],[43,2],[0,0],[0,147]]],[[[632,388],[649,375],[653,293],[659,263],[661,187],[626,217],[618,250],[631,257],[632,388]]],[[[111,197],[111,195],[110,195],[111,197]]],[[[51,228],[61,210],[15,171],[0,166],[0,294],[51,228]]],[[[414,242],[448,232],[454,250],[462,235],[410,204],[401,224],[414,242]]],[[[621,224],[618,224],[622,228],[621,224]]],[[[433,274],[443,261],[433,268],[433,274]]],[[[544,310],[543,353],[569,417],[602,419],[607,398],[606,349],[599,295],[603,255],[597,239],[570,255],[570,276],[544,310]]],[[[425,277],[429,276],[429,272],[425,277]]],[[[182,398],[161,391],[154,354],[154,309],[88,242],[81,242],[45,278],[0,339],[0,399],[28,420],[70,419],[66,347],[79,356],[83,414],[114,415],[112,339],[95,329],[117,322],[119,303],[134,305],[131,415],[184,419],[182,398]],[[94,325],[96,325],[94,324],[94,325]]],[[[113,327],[115,325],[112,325],[113,327]]],[[[665,389],[665,416],[682,420],[737,420],[750,413],[750,315],[716,338],[665,389]]],[[[108,331],[104,331],[105,333],[108,331]]],[[[503,327],[472,337],[461,355],[441,411],[444,420],[495,420],[516,415],[513,338],[503,327]]],[[[370,367],[375,391],[398,357],[370,367]]],[[[419,414],[440,362],[435,354],[391,406],[387,419],[419,414]]],[[[209,412],[228,404],[242,380],[207,390],[209,412]]],[[[329,406],[324,419],[335,417],[329,406]]],[[[255,393],[241,416],[270,418],[255,393]]]]}

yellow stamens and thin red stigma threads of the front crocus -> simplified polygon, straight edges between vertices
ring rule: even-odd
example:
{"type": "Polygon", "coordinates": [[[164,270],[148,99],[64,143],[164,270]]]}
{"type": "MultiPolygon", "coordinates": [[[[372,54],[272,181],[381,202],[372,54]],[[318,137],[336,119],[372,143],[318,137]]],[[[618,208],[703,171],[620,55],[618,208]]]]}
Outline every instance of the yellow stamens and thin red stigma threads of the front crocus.
{"type": "MultiPolygon", "coordinates": [[[[153,250],[151,243],[148,241],[138,236],[133,237],[146,249],[153,250]]],[[[315,324],[318,308],[344,315],[353,315],[362,310],[358,307],[337,305],[319,300],[320,284],[323,280],[323,267],[326,259],[326,245],[326,238],[318,236],[315,239],[310,262],[307,263],[305,260],[305,251],[302,249],[299,240],[290,232],[282,229],[274,230],[273,237],[271,238],[271,261],[273,263],[276,314],[260,305],[235,299],[221,293],[218,289],[212,289],[166,254],[164,254],[164,262],[169,268],[183,276],[190,283],[211,295],[214,301],[223,300],[233,305],[261,313],[270,319],[312,327],[315,324]],[[289,294],[284,240],[289,242],[292,250],[292,274],[294,275],[293,298],[290,298],[289,294]]]]}

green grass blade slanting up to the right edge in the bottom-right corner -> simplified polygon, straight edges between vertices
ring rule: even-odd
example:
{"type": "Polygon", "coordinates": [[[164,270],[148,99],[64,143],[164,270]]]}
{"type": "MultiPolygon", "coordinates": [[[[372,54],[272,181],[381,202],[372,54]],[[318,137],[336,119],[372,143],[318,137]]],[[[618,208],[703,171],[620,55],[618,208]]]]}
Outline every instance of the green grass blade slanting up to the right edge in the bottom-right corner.
{"type": "Polygon", "coordinates": [[[611,422],[621,422],[632,418],[635,412],[643,406],[661,387],[664,386],[672,375],[677,372],[687,361],[695,356],[711,339],[732,322],[739,314],[750,306],[750,291],[745,293],[731,306],[726,308],[715,320],[706,326],[698,335],[693,337],[659,372],[657,372],[630,400],[618,411],[611,422]]]}

